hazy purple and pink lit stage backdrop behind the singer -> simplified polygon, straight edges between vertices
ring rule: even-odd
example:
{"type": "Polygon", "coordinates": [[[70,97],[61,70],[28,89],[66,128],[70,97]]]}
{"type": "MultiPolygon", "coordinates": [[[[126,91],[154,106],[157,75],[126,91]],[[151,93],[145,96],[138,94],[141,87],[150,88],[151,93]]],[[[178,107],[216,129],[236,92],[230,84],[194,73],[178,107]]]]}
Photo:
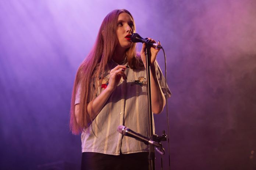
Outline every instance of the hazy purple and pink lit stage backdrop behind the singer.
{"type": "Polygon", "coordinates": [[[0,0],[0,169],[79,169],[72,85],[116,8],[166,50],[171,169],[256,169],[255,0],[0,0]]]}

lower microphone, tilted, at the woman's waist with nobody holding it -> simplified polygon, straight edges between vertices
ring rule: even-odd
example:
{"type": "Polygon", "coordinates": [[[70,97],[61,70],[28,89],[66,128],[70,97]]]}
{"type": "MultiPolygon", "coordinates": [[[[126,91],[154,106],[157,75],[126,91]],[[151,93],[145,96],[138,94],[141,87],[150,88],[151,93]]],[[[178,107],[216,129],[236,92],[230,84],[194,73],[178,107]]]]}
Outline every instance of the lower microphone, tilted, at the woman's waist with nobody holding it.
{"type": "Polygon", "coordinates": [[[161,147],[161,145],[153,140],[150,140],[149,138],[142,136],[139,133],[136,133],[134,131],[132,131],[131,129],[128,129],[128,127],[126,126],[118,126],[117,131],[121,134],[123,134],[124,136],[129,136],[129,137],[133,137],[136,140],[142,141],[144,142],[146,145],[150,144],[153,145],[154,147],[161,147]]]}

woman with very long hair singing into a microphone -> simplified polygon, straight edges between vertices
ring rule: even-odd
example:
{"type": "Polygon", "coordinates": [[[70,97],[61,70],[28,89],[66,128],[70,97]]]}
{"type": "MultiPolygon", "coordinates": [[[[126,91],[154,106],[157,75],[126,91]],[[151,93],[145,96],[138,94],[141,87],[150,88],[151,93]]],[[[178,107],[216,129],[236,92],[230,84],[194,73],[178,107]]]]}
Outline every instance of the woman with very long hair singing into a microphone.
{"type": "MultiPolygon", "coordinates": [[[[70,128],[74,134],[82,132],[82,169],[148,169],[147,145],[117,132],[117,127],[124,125],[149,136],[146,45],[136,55],[130,39],[134,32],[129,11],[110,12],[77,71],[70,128]]],[[[155,62],[159,49],[150,51],[152,111],[158,114],[166,102],[162,90],[165,82],[155,62]]]]}

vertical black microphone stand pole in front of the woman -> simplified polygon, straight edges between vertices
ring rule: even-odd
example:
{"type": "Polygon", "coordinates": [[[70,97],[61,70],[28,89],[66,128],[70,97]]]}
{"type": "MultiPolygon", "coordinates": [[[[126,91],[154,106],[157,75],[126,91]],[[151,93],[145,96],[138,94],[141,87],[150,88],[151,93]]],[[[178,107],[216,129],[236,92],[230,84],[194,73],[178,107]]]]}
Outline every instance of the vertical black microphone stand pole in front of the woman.
{"type": "MultiPolygon", "coordinates": [[[[151,140],[153,140],[153,114],[152,114],[152,101],[151,101],[151,81],[150,81],[150,47],[147,45],[145,50],[146,55],[146,71],[147,71],[147,104],[149,110],[149,135],[151,140]]],[[[149,160],[150,160],[150,170],[155,170],[155,150],[153,145],[149,145],[149,160]]]]}

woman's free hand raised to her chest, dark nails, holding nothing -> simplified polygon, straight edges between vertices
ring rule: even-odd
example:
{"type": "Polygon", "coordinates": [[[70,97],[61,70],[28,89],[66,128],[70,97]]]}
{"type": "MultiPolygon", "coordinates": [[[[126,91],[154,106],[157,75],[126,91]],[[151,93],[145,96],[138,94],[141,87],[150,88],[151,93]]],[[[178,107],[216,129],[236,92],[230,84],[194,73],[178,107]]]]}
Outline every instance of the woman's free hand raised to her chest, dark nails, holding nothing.
{"type": "Polygon", "coordinates": [[[106,89],[113,92],[114,89],[117,87],[118,83],[120,82],[121,77],[124,80],[126,80],[126,75],[124,74],[125,69],[126,69],[126,66],[118,65],[114,69],[110,70],[109,84],[107,85],[106,89]]]}

